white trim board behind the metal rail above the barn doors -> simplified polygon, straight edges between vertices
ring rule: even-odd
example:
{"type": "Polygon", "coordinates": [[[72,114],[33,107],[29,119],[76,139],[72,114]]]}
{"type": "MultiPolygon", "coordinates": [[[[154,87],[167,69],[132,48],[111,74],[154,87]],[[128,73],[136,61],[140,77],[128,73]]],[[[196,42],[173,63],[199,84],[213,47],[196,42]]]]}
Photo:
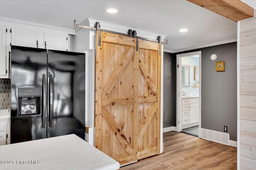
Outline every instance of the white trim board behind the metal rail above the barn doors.
{"type": "MultiPolygon", "coordinates": [[[[157,39],[158,36],[161,36],[162,39],[166,37],[166,35],[158,34],[158,33],[152,33],[149,31],[143,31],[141,29],[136,29],[136,28],[131,28],[131,27],[126,27],[122,25],[117,25],[114,23],[108,23],[105,21],[100,21],[100,20],[95,20],[92,18],[88,18],[85,21],[82,22],[81,25],[86,24],[87,26],[94,27],[95,23],[99,22],[100,23],[100,28],[101,29],[106,29],[110,31],[115,31],[115,32],[120,32],[120,33],[125,33],[127,34],[129,29],[136,30],[137,36],[140,37],[145,37],[145,38],[150,38],[150,39],[157,39]]],[[[80,29],[75,29],[76,32],[79,31],[80,29]]]]}

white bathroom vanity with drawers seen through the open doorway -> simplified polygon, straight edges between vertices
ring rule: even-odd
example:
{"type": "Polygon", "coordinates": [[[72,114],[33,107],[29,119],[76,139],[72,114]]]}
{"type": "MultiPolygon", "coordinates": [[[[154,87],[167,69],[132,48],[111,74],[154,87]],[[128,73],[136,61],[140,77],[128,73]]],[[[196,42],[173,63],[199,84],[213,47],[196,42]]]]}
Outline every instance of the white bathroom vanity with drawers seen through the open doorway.
{"type": "Polygon", "coordinates": [[[182,129],[199,125],[199,97],[182,96],[182,129]]]}

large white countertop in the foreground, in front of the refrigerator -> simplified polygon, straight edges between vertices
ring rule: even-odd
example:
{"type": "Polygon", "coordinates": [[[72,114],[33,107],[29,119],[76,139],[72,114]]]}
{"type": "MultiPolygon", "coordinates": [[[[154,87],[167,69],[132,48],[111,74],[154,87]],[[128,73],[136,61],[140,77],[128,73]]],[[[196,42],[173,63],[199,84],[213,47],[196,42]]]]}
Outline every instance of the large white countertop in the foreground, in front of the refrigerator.
{"type": "Polygon", "coordinates": [[[0,146],[0,160],[1,170],[120,168],[116,160],[74,134],[0,146]]]}

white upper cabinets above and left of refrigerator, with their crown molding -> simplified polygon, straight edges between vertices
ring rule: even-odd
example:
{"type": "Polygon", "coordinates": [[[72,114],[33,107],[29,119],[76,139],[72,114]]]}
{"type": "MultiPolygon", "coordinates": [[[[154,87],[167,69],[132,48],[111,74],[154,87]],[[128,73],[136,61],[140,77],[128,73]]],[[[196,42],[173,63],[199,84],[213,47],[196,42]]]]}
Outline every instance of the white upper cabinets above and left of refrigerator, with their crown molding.
{"type": "Polygon", "coordinates": [[[76,34],[72,28],[16,20],[2,16],[0,16],[0,26],[0,78],[9,78],[10,45],[69,51],[67,37],[68,35],[76,34]]]}

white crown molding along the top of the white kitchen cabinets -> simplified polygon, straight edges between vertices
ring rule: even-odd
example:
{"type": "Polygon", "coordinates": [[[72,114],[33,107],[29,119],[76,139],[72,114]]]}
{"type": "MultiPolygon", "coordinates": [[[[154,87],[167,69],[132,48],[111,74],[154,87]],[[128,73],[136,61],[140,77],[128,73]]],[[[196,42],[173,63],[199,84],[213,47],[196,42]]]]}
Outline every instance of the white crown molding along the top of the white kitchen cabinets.
{"type": "Polygon", "coordinates": [[[37,22],[32,22],[32,21],[18,20],[18,19],[2,17],[2,16],[0,16],[0,21],[1,22],[4,21],[4,22],[8,22],[8,23],[29,25],[29,26],[34,26],[34,27],[46,28],[46,29],[55,29],[57,31],[64,31],[68,34],[76,35],[74,29],[72,29],[72,28],[59,27],[59,26],[48,25],[48,24],[44,24],[44,23],[37,23],[37,22]]]}

